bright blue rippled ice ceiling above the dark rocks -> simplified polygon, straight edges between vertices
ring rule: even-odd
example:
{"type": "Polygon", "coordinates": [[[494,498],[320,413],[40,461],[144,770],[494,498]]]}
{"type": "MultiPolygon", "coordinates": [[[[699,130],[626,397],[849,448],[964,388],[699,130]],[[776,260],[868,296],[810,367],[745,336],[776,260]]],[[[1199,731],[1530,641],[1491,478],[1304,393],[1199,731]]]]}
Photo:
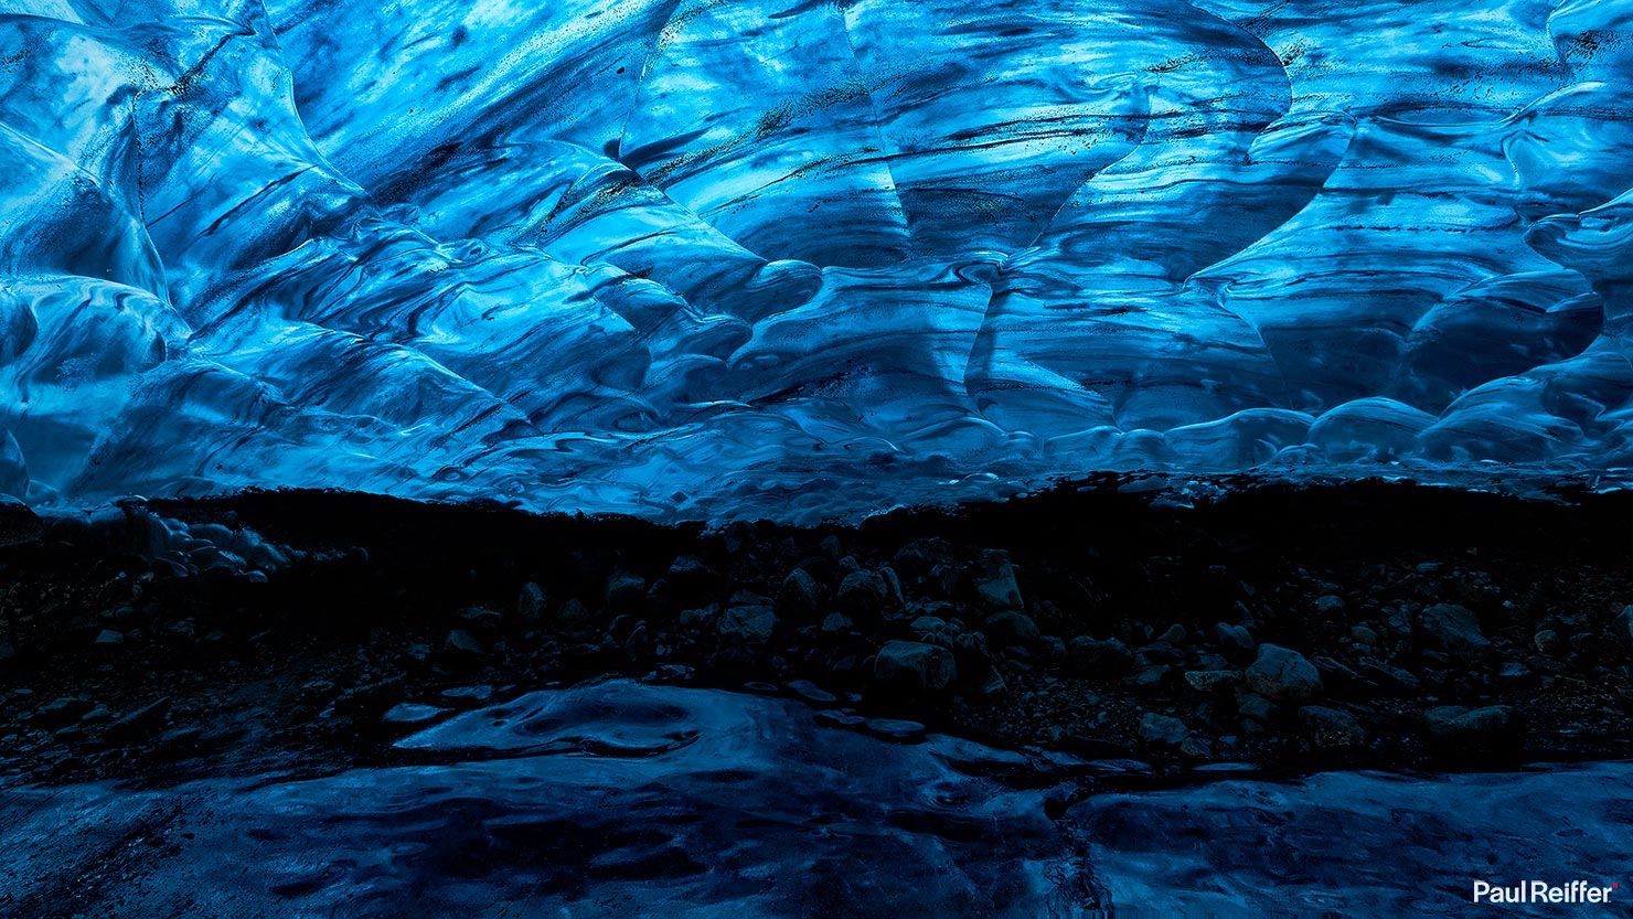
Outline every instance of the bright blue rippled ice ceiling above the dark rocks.
{"type": "Polygon", "coordinates": [[[1633,465],[1633,0],[0,13],[0,493],[1633,465]]]}

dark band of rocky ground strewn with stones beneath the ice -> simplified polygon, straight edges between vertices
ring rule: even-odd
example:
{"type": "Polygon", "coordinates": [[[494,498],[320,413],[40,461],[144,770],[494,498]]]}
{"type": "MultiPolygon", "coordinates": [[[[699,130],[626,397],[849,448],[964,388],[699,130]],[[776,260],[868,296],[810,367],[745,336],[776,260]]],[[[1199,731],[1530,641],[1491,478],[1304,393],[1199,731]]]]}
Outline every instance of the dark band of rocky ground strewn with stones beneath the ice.
{"type": "Polygon", "coordinates": [[[821,529],[300,491],[0,509],[0,772],[397,762],[603,674],[1174,767],[1628,753],[1633,496],[1159,485],[821,529]]]}

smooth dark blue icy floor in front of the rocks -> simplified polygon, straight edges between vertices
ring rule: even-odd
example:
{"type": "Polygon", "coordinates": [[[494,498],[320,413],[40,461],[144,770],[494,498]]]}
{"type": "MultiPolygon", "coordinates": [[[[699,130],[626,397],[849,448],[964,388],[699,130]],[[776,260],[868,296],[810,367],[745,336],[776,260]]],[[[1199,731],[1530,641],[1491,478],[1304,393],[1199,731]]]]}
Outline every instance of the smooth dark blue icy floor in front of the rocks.
{"type": "Polygon", "coordinates": [[[534,692],[400,746],[438,762],[0,785],[0,911],[1466,916],[1475,880],[1626,880],[1633,800],[1633,767],[1595,764],[1228,779],[1089,793],[1052,819],[1045,800],[1078,797],[1091,764],[887,743],[784,699],[625,681],[534,692]]]}

